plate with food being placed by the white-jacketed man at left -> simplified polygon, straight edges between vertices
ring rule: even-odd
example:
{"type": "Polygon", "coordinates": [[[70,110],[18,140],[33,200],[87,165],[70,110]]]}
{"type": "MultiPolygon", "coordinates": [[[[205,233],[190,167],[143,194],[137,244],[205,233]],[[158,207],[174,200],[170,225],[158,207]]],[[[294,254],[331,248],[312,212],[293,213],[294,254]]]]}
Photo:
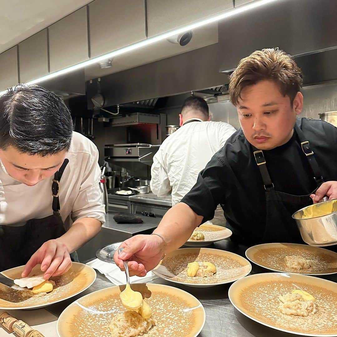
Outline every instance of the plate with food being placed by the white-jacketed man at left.
{"type": "Polygon", "coordinates": [[[15,296],[19,296],[20,299],[13,298],[11,301],[10,289],[0,284],[0,309],[45,307],[80,294],[96,279],[96,272],[93,268],[78,262],[73,262],[64,275],[51,277],[48,282],[43,279],[43,272],[40,268],[41,265],[36,265],[25,278],[21,278],[24,266],[1,272],[4,276],[14,280],[17,289],[25,290],[20,291],[19,295],[15,292],[15,296]]]}

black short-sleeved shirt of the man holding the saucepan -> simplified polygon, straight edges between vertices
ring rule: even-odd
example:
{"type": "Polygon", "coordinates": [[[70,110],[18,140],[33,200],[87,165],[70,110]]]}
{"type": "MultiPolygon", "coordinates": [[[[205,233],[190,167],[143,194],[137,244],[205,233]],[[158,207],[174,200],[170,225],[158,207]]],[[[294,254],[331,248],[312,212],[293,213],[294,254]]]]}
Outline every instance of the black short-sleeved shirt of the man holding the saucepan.
{"type": "MultiPolygon", "coordinates": [[[[337,128],[309,118],[298,118],[296,123],[310,143],[324,180],[336,181],[337,128]]],[[[286,144],[263,152],[276,191],[307,195],[317,187],[296,131],[286,144]]],[[[265,189],[252,148],[241,129],[212,157],[182,202],[202,215],[204,221],[214,217],[220,204],[233,231],[233,241],[261,243],[266,226],[265,189]]]]}

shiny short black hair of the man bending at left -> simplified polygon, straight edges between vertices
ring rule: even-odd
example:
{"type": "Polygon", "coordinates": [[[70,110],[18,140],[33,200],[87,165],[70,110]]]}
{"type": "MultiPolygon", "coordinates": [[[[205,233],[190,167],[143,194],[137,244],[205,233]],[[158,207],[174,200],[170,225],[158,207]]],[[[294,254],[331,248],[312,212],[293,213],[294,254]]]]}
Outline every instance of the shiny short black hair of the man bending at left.
{"type": "Polygon", "coordinates": [[[73,124],[61,98],[36,84],[19,84],[0,97],[0,148],[47,156],[70,147],[73,124]]]}

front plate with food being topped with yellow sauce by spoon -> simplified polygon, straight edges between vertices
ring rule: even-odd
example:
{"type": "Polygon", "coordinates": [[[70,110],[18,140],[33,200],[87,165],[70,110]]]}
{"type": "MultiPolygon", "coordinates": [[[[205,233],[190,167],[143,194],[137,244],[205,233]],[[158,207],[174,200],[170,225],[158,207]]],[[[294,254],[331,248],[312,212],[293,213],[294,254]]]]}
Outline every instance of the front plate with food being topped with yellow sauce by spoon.
{"type": "Polygon", "coordinates": [[[59,337],[196,337],[201,332],[205,310],[191,294],[162,284],[137,283],[131,288],[141,294],[142,303],[135,305],[136,297],[124,306],[125,285],[97,290],[71,303],[58,319],[59,337]]]}

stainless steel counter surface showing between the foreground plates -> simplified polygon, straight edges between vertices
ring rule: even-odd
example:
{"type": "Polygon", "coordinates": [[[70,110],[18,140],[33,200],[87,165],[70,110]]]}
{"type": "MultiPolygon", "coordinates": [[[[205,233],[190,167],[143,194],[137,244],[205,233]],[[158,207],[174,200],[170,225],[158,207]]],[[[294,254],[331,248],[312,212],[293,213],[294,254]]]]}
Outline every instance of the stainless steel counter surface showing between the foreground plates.
{"type": "MultiPolygon", "coordinates": [[[[219,241],[212,246],[211,248],[229,250],[240,255],[244,255],[246,250],[245,246],[238,246],[229,240],[219,241]]],[[[252,273],[262,273],[270,272],[264,268],[258,267],[252,264],[252,273]]],[[[332,281],[337,281],[336,275],[330,275],[324,277],[332,281]]],[[[224,284],[215,287],[209,288],[193,288],[178,283],[171,283],[160,278],[155,279],[154,283],[167,284],[181,288],[188,293],[195,296],[203,304],[206,311],[206,323],[198,335],[198,337],[295,337],[298,335],[288,334],[285,332],[277,331],[272,328],[263,326],[248,317],[241,314],[236,310],[231,302],[228,299],[228,289],[232,284],[224,284]]],[[[150,282],[151,283],[151,282],[150,282]]],[[[97,279],[94,284],[89,287],[81,295],[78,295],[72,299],[51,305],[46,307],[48,311],[53,313],[56,316],[59,316],[60,313],[64,310],[66,306],[70,303],[82,297],[83,295],[89,294],[96,290],[113,286],[108,279],[97,273],[97,279]]],[[[184,337],[184,336],[181,336],[184,337]]]]}

